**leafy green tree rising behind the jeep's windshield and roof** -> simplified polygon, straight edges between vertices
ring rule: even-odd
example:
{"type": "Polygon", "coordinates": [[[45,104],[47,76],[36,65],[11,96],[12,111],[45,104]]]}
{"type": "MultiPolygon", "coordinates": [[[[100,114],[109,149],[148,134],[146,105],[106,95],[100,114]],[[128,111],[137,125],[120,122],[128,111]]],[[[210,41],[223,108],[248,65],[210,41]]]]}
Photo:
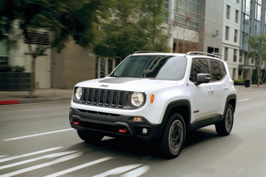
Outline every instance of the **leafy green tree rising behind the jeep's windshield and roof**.
{"type": "Polygon", "coordinates": [[[169,52],[164,0],[115,0],[106,34],[99,35],[97,55],[124,59],[136,51],[169,52]]]}

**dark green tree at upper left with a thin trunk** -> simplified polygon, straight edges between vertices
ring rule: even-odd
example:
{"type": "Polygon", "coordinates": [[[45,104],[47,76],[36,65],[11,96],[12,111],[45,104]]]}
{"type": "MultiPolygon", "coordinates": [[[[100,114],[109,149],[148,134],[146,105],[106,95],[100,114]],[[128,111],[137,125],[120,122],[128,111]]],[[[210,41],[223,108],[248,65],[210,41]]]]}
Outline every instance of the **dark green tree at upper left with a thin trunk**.
{"type": "Polygon", "coordinates": [[[32,89],[35,90],[35,61],[48,47],[65,47],[72,37],[76,44],[87,47],[95,39],[95,22],[108,17],[111,1],[107,0],[1,0],[0,39],[3,32],[11,33],[18,24],[21,35],[29,30],[46,29],[55,34],[49,45],[29,45],[32,55],[32,89]]]}

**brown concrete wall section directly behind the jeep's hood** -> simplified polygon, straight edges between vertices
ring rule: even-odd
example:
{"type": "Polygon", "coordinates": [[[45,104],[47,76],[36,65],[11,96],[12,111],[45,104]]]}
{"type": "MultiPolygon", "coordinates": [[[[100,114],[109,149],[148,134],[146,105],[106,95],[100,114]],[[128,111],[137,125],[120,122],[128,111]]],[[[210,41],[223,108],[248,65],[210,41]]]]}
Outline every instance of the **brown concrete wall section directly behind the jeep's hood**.
{"type": "Polygon", "coordinates": [[[81,81],[95,79],[95,55],[70,40],[60,53],[52,50],[52,88],[73,89],[81,81]]]}

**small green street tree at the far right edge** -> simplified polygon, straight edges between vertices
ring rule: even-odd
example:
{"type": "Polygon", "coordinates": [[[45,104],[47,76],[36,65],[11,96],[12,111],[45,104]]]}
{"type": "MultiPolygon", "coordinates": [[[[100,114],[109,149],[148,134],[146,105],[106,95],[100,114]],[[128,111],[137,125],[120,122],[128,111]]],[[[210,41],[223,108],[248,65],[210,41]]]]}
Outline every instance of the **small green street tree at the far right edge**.
{"type": "Polygon", "coordinates": [[[261,80],[261,67],[266,60],[266,35],[250,35],[248,38],[248,44],[250,45],[250,52],[248,57],[255,59],[257,67],[257,86],[260,86],[261,80]]]}

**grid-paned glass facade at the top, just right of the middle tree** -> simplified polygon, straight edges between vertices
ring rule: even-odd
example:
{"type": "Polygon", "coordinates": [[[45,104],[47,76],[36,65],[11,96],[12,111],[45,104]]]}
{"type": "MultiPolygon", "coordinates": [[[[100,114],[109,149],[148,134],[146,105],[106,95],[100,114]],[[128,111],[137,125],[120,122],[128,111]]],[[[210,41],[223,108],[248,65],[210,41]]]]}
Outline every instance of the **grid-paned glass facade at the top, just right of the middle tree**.
{"type": "Polygon", "coordinates": [[[176,0],[174,23],[181,28],[199,31],[200,0],[176,0]]]}

